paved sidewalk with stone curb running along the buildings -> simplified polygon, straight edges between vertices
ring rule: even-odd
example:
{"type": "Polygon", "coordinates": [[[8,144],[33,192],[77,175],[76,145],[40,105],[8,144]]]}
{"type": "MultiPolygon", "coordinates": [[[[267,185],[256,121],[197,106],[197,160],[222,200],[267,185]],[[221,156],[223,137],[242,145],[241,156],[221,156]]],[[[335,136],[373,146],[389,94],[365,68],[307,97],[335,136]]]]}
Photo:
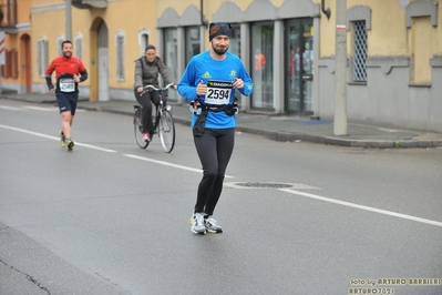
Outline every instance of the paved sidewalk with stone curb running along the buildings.
{"type": "MultiPolygon", "coordinates": [[[[33,103],[55,103],[54,94],[16,94],[3,93],[1,99],[19,100],[33,103]]],[[[90,102],[81,99],[78,108],[90,111],[103,111],[120,114],[133,114],[136,101],[112,100],[90,102]]],[[[189,125],[188,105],[171,103],[175,123],[189,125]]],[[[359,146],[373,149],[393,148],[436,148],[442,146],[441,133],[425,133],[411,130],[387,129],[381,126],[348,123],[348,135],[335,136],[333,122],[327,120],[308,120],[299,116],[237,114],[237,131],[264,135],[274,141],[306,141],[319,144],[359,146]]]]}

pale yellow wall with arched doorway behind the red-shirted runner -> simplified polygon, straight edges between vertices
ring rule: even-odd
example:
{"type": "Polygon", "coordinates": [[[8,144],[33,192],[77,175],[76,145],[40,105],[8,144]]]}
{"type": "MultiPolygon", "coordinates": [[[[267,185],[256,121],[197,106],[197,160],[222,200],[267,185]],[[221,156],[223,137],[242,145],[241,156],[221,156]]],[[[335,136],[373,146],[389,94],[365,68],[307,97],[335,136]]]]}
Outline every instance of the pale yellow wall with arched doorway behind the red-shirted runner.
{"type": "MultiPolygon", "coordinates": [[[[37,7],[53,7],[53,4],[63,4],[63,0],[44,0],[35,1],[37,7]]],[[[138,47],[138,31],[147,29],[150,31],[150,42],[156,43],[156,14],[152,7],[152,1],[145,0],[120,0],[107,2],[105,9],[78,9],[72,8],[72,41],[75,35],[81,33],[83,35],[83,62],[89,72],[94,72],[92,65],[92,58],[96,60],[96,26],[92,23],[97,19],[105,21],[109,32],[109,87],[110,88],[132,88],[134,60],[140,57],[138,47]],[[117,32],[123,32],[125,37],[125,80],[116,80],[116,47],[115,35],[117,32]],[[91,43],[94,45],[91,49],[91,43]]],[[[37,42],[45,35],[49,42],[49,60],[51,61],[58,55],[58,38],[65,37],[65,10],[52,10],[35,12],[32,16],[32,34],[33,34],[33,52],[37,57],[37,42]],[[48,21],[50,20],[50,21],[48,21]],[[56,24],[58,23],[58,24],[56,24]]],[[[38,74],[37,67],[33,68],[34,82],[44,82],[44,78],[38,74]]],[[[94,79],[91,77],[83,85],[91,85],[94,79]]]]}

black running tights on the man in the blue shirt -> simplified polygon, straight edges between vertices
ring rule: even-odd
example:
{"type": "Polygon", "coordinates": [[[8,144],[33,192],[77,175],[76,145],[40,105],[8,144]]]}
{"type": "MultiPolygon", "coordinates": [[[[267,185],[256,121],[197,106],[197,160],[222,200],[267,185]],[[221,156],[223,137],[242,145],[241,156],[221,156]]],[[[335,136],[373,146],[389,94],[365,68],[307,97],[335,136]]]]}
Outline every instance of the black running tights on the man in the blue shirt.
{"type": "Polygon", "coordinates": [[[223,191],[224,175],[235,145],[235,129],[206,129],[194,136],[196,152],[203,165],[195,212],[214,214],[223,191]]]}

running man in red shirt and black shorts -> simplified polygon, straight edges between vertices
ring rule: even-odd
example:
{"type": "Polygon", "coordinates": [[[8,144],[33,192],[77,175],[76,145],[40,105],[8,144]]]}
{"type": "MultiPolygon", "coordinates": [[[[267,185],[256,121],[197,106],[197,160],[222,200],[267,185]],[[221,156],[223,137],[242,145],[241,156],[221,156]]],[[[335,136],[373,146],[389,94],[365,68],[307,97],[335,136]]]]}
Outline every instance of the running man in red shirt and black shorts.
{"type": "Polygon", "coordinates": [[[72,151],[71,126],[79,102],[79,82],[88,79],[88,71],[79,58],[72,57],[72,42],[61,43],[63,54],[55,58],[45,70],[47,84],[50,92],[55,92],[56,103],[61,113],[61,144],[72,151]],[[55,71],[56,82],[52,84],[52,73],[55,71]]]}

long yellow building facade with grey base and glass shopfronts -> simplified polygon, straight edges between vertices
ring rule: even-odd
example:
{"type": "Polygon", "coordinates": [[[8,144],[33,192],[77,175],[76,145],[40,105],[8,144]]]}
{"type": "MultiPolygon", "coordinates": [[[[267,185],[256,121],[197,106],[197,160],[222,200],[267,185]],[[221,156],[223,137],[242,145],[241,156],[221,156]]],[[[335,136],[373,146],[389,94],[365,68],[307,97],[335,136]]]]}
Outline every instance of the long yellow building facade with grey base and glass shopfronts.
{"type": "MultiPolygon", "coordinates": [[[[25,0],[24,0],[25,1],[25,0]]],[[[65,38],[63,0],[31,1],[32,91],[65,38]]],[[[442,132],[442,0],[347,0],[347,115],[442,132]]],[[[72,0],[72,41],[92,101],[133,100],[134,60],[156,45],[175,81],[209,48],[209,22],[233,24],[230,51],[254,80],[240,109],[335,115],[337,0],[72,0]],[[135,8],[135,9],[134,9],[135,8]],[[329,11],[330,13],[327,13],[329,11]]],[[[183,99],[171,93],[171,100],[183,99]]]]}

